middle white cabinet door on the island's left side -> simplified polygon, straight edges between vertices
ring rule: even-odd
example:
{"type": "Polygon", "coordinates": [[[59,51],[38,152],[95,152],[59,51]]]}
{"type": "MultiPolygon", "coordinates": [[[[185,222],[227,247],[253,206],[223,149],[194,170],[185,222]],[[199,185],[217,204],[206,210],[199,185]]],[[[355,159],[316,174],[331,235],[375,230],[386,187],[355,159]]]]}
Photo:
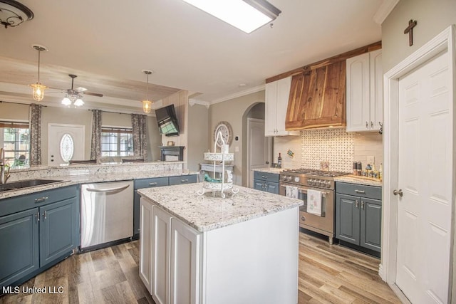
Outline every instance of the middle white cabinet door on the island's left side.
{"type": "Polygon", "coordinates": [[[170,223],[172,216],[155,207],[152,213],[152,298],[169,303],[170,223]]]}

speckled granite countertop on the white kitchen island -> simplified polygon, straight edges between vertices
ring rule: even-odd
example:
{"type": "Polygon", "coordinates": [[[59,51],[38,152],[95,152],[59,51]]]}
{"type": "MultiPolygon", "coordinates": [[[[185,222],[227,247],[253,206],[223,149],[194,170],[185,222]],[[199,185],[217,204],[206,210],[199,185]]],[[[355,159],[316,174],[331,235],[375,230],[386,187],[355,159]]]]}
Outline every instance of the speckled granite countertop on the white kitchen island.
{"type": "Polygon", "coordinates": [[[227,190],[226,199],[219,193],[202,196],[202,183],[139,189],[138,193],[154,204],[192,226],[197,231],[210,231],[242,221],[249,221],[268,214],[302,206],[300,199],[291,199],[278,194],[237,187],[239,193],[227,190]]]}

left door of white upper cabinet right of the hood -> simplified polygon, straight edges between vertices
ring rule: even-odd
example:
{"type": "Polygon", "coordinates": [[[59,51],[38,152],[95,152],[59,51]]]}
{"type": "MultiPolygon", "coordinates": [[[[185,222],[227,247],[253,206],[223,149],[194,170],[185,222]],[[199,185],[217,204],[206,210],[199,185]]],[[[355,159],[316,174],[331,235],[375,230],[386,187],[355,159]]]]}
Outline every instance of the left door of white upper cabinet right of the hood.
{"type": "Polygon", "coordinates": [[[347,59],[347,132],[369,130],[369,63],[369,53],[347,59]]]}

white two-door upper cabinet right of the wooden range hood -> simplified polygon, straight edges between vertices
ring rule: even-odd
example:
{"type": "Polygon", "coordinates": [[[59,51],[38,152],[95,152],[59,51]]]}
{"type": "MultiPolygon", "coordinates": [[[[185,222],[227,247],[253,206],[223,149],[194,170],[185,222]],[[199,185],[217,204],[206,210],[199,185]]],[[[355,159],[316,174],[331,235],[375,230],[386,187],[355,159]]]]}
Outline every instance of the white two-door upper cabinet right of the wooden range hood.
{"type": "Polygon", "coordinates": [[[383,124],[381,50],[347,59],[346,100],[347,132],[380,130],[380,123],[383,124]]]}

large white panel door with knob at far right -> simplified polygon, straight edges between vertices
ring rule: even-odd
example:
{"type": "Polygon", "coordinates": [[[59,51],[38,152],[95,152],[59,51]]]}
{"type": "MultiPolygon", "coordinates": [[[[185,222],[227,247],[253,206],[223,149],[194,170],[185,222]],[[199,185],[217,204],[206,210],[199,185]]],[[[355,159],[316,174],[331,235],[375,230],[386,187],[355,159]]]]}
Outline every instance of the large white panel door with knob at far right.
{"type": "Polygon", "coordinates": [[[447,303],[452,217],[448,53],[399,80],[396,284],[418,303],[447,303]]]}

